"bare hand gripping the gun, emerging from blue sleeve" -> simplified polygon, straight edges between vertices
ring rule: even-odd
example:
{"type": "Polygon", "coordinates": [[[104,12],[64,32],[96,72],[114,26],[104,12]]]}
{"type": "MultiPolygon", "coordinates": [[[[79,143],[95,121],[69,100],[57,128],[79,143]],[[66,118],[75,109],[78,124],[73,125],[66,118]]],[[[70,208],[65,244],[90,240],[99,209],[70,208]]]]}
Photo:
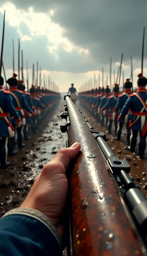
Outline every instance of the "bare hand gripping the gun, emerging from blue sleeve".
{"type": "Polygon", "coordinates": [[[81,146],[75,142],[71,147],[60,149],[37,176],[32,189],[20,207],[36,209],[45,214],[63,236],[60,217],[65,208],[68,181],[65,170],[79,152],[81,146]]]}

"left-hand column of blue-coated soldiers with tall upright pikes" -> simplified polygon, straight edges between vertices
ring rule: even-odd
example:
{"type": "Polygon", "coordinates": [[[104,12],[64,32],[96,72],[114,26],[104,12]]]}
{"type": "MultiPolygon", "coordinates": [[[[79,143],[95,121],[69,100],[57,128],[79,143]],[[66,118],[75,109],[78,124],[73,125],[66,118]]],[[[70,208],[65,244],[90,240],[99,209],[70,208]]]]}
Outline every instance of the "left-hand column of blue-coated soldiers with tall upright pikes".
{"type": "MultiPolygon", "coordinates": [[[[38,86],[38,62],[37,62],[37,80],[35,81],[34,65],[33,65],[33,84],[29,90],[29,79],[27,77],[27,92],[24,86],[23,75],[23,52],[21,51],[22,67],[21,74],[22,80],[20,80],[20,41],[18,47],[18,81],[16,79],[17,74],[14,71],[14,41],[13,44],[13,76],[6,79],[6,74],[3,65],[3,44],[4,44],[4,28],[5,28],[5,12],[3,19],[3,31],[2,31],[2,46],[0,56],[0,169],[7,168],[10,163],[7,162],[7,155],[14,156],[17,151],[14,150],[15,144],[18,145],[18,149],[25,146],[24,141],[30,140],[30,130],[33,134],[36,134],[42,120],[51,112],[51,108],[55,106],[55,103],[60,99],[59,88],[51,80],[48,79],[44,88],[41,89],[41,68],[40,68],[40,83],[38,86]],[[4,79],[1,76],[1,71],[4,71],[4,77],[6,81],[6,90],[2,88],[4,79]],[[35,85],[34,85],[35,82],[35,85]],[[9,90],[7,87],[9,85],[9,90]],[[45,88],[46,87],[46,88],[45,88]],[[17,142],[16,142],[17,133],[17,142]]],[[[27,68],[28,76],[28,68],[27,68]]],[[[47,81],[47,80],[46,80],[47,81]]]]}

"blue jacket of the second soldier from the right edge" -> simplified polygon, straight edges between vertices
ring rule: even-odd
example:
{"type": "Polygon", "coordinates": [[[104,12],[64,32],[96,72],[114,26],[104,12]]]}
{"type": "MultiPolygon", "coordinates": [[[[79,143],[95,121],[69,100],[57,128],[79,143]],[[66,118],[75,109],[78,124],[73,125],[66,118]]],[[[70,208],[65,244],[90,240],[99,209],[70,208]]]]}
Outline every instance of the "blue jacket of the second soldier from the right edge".
{"type": "MultiPolygon", "coordinates": [[[[115,106],[115,111],[118,113],[118,115],[122,110],[130,94],[131,94],[131,90],[125,90],[122,94],[118,95],[118,102],[115,106]]],[[[125,121],[125,117],[119,119],[120,123],[124,123],[124,121],[125,121]]]]}

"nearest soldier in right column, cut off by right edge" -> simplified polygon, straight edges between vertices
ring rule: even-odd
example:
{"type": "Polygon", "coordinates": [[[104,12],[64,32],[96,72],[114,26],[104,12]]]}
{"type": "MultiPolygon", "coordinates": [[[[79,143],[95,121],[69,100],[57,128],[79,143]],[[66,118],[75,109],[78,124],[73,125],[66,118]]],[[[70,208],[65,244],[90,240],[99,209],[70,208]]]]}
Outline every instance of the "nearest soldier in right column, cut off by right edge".
{"type": "Polygon", "coordinates": [[[129,128],[131,128],[131,146],[127,147],[126,149],[131,152],[135,151],[139,131],[140,142],[138,157],[140,159],[144,159],[147,135],[147,91],[145,89],[145,86],[147,85],[147,78],[145,78],[142,74],[139,74],[138,77],[138,90],[130,94],[130,97],[127,99],[122,111],[120,112],[120,115],[118,116],[118,121],[127,115],[129,109],[131,110],[129,121],[129,128]]]}

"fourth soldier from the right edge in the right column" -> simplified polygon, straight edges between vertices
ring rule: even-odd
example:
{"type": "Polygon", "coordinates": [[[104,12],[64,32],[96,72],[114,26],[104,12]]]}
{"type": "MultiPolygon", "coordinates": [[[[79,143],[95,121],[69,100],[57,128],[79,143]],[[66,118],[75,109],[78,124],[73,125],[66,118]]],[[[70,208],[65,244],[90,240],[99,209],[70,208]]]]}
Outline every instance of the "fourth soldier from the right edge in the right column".
{"type": "MultiPolygon", "coordinates": [[[[109,89],[109,85],[107,85],[107,88],[105,89],[105,96],[102,96],[100,98],[100,109],[107,103],[108,101],[108,97],[110,96],[110,89],[109,89]]],[[[105,109],[103,111],[101,111],[101,126],[104,125],[104,118],[106,117],[106,123],[105,126],[107,128],[107,124],[108,124],[108,111],[105,109]]]]}

